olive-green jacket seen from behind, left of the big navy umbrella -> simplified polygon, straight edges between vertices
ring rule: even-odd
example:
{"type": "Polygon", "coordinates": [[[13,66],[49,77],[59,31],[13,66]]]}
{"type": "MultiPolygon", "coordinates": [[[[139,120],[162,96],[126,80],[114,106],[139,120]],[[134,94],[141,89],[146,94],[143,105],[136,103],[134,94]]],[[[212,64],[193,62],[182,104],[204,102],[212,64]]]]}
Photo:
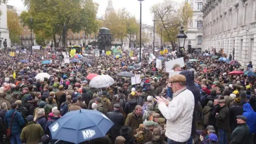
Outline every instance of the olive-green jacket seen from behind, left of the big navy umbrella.
{"type": "Polygon", "coordinates": [[[43,135],[44,130],[42,126],[32,121],[22,129],[20,139],[25,143],[38,144],[41,142],[43,135]]]}

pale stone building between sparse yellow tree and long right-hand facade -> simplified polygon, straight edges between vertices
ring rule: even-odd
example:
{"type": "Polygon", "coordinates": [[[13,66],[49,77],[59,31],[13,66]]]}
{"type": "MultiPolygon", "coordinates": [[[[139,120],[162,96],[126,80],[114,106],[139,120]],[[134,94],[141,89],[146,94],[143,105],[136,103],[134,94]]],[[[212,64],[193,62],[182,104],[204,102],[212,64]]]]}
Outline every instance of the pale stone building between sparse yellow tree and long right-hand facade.
{"type": "Polygon", "coordinates": [[[185,47],[191,45],[191,48],[202,48],[203,39],[203,0],[186,0],[193,9],[193,20],[190,22],[186,35],[185,47]]]}

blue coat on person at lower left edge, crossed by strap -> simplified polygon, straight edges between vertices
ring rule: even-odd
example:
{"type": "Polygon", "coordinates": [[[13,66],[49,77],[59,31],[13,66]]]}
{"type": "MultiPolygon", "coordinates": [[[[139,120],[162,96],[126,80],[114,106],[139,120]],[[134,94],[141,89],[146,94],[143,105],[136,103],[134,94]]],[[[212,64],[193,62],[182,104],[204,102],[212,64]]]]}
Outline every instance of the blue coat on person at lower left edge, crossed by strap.
{"type": "MultiPolygon", "coordinates": [[[[17,110],[11,109],[11,110],[7,111],[4,116],[4,123],[5,123],[5,126],[8,128],[11,125],[12,115],[15,111],[17,111],[17,110]]],[[[12,134],[21,133],[23,126],[25,126],[25,121],[24,121],[22,115],[20,114],[20,112],[17,111],[13,117],[11,133],[12,134]]]]}

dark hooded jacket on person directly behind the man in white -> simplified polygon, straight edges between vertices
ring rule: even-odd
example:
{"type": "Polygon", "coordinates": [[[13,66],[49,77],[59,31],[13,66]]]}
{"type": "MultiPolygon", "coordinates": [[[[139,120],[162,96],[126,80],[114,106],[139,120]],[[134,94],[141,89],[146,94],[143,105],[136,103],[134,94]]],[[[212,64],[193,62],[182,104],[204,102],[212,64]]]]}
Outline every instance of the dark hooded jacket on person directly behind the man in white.
{"type": "Polygon", "coordinates": [[[194,113],[193,113],[193,122],[192,122],[192,131],[191,131],[191,135],[197,135],[196,132],[196,123],[197,123],[197,117],[196,114],[196,104],[198,103],[201,94],[200,94],[200,90],[198,89],[198,87],[196,87],[195,83],[194,83],[194,75],[193,72],[190,70],[183,70],[181,71],[180,75],[184,75],[186,77],[186,83],[187,83],[187,89],[189,91],[191,91],[194,95],[194,113]]]}

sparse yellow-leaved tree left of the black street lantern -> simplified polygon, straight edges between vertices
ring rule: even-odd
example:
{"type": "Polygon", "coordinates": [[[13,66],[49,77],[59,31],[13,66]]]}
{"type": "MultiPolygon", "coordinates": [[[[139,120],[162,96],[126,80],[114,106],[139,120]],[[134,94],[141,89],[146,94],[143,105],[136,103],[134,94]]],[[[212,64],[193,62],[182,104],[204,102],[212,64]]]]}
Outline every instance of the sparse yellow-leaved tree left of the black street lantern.
{"type": "Polygon", "coordinates": [[[186,31],[193,18],[193,9],[190,4],[187,2],[177,4],[171,0],[166,0],[163,3],[153,5],[150,10],[156,18],[156,30],[160,31],[163,28],[163,39],[167,39],[171,43],[172,49],[175,50],[180,26],[183,26],[186,31]]]}

